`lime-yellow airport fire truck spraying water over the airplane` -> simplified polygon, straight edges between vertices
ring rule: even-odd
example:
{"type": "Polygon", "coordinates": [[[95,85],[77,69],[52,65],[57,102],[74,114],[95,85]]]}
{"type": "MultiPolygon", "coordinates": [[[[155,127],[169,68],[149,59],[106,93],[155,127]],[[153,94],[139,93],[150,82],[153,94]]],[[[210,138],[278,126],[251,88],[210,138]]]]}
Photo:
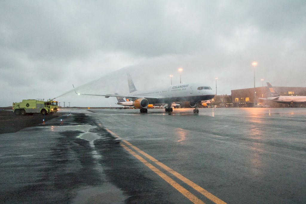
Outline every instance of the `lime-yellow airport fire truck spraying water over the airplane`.
{"type": "Polygon", "coordinates": [[[43,99],[22,100],[20,103],[13,103],[13,113],[15,115],[33,115],[33,113],[41,113],[47,115],[58,111],[58,101],[43,99]]]}

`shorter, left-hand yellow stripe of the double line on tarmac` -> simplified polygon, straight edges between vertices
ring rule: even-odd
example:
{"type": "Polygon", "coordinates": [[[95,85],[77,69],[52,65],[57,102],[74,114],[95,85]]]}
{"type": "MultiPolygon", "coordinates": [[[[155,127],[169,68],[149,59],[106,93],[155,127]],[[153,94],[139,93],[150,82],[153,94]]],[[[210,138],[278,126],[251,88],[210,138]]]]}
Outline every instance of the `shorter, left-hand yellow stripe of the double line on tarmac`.
{"type": "Polygon", "coordinates": [[[153,172],[155,172],[157,175],[162,177],[166,182],[168,182],[171,186],[173,186],[177,191],[179,191],[181,194],[185,195],[186,198],[188,198],[191,202],[196,204],[205,204],[203,201],[201,201],[199,198],[197,198],[195,195],[190,193],[187,189],[182,187],[180,184],[175,182],[173,179],[171,179],[169,176],[161,172],[158,168],[150,164],[147,160],[145,160],[143,157],[135,153],[132,149],[129,149],[126,145],[124,145],[122,142],[120,142],[120,145],[126,149],[129,153],[131,153],[134,157],[136,157],[139,161],[144,163],[147,167],[149,167],[153,172]]]}

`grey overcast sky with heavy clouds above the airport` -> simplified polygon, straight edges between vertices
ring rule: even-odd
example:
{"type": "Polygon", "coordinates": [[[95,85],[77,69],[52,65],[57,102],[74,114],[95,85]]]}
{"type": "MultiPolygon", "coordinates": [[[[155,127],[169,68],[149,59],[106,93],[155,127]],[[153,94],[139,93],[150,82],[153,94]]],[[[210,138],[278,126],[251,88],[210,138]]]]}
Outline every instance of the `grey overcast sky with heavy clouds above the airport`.
{"type": "Polygon", "coordinates": [[[0,1],[0,107],[199,81],[231,94],[261,79],[306,87],[306,1],[0,1]],[[67,93],[67,94],[64,94],[67,93]],[[64,94],[63,96],[61,96],[64,94]]]}

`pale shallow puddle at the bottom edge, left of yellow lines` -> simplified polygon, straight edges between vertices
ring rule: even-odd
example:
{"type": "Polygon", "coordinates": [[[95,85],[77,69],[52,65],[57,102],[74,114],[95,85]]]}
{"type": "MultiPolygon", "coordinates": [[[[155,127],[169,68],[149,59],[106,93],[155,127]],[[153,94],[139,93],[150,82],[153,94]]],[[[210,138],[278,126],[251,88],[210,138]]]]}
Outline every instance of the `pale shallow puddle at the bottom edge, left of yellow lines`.
{"type": "Polygon", "coordinates": [[[129,196],[123,194],[116,186],[110,183],[104,183],[99,187],[86,186],[77,191],[72,203],[124,203],[129,196]]]}

